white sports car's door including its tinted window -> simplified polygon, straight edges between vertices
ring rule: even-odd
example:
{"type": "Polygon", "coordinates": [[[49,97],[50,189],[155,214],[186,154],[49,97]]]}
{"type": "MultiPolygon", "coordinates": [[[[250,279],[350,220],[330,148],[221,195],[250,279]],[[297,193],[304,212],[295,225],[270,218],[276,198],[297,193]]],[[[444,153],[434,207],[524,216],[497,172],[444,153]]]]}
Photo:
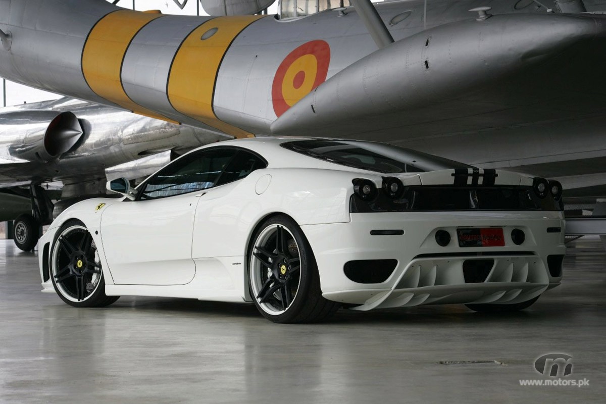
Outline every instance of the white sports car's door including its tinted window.
{"type": "Polygon", "coordinates": [[[236,151],[216,147],[186,154],[141,184],[136,200],[104,211],[101,236],[116,284],[183,285],[193,279],[196,206],[236,151]]]}

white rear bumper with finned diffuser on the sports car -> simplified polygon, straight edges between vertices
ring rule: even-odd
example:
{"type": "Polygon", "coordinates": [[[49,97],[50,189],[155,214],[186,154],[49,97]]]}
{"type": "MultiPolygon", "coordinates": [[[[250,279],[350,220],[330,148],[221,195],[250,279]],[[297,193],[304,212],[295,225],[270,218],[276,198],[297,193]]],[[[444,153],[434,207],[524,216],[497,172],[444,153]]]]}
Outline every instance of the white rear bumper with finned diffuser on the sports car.
{"type": "MultiPolygon", "coordinates": [[[[302,228],[318,262],[323,296],[361,305],[358,310],[517,303],[538,296],[561,280],[561,272],[550,274],[547,260],[548,256],[564,255],[564,220],[559,212],[356,213],[351,214],[349,223],[302,228]],[[504,247],[459,247],[457,228],[486,227],[504,230],[504,247]],[[561,231],[553,233],[553,228],[561,231]],[[524,231],[526,238],[521,245],[511,239],[513,229],[524,231]],[[373,236],[373,230],[402,230],[404,234],[373,236]],[[436,242],[438,230],[451,236],[445,247],[436,242]],[[345,263],[352,260],[397,263],[384,282],[361,283],[345,274],[345,263]],[[488,265],[483,280],[466,282],[468,270],[464,271],[464,266],[473,266],[478,260],[488,265]]],[[[365,270],[378,268],[369,263],[365,270]]]]}

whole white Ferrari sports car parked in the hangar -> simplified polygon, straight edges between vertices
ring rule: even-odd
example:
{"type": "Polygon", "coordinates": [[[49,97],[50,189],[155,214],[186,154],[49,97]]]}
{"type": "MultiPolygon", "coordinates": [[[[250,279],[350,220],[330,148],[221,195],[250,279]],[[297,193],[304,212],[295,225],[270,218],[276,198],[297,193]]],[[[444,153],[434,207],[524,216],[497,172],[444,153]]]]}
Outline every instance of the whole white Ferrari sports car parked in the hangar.
{"type": "Polygon", "coordinates": [[[273,322],[464,303],[521,310],[559,285],[558,182],[374,142],[259,138],[185,154],[39,242],[45,292],[253,302],[273,322]]]}

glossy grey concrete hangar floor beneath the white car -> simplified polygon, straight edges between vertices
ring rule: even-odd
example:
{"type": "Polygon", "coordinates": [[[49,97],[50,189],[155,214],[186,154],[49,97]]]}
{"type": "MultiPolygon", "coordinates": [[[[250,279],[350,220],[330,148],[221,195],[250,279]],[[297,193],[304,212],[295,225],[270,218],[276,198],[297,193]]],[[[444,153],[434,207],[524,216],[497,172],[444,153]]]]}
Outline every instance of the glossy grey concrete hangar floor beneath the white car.
{"type": "Polygon", "coordinates": [[[253,306],[196,300],[78,310],[40,293],[37,254],[0,240],[0,402],[603,403],[598,239],[573,243],[565,271],[522,313],[341,310],[327,324],[275,325],[253,306]],[[567,379],[590,385],[520,386],[545,379],[533,362],[548,353],[570,354],[567,379]]]}

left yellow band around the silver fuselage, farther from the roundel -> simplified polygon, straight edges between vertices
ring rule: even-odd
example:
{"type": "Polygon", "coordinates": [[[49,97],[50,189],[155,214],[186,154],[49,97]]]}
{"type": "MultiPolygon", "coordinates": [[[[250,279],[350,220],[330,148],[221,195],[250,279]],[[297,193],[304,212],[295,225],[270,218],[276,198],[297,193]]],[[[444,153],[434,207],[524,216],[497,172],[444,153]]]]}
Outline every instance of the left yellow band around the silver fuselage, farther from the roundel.
{"type": "Polygon", "coordinates": [[[122,87],[122,61],[135,35],[161,14],[119,10],[102,18],[90,31],[82,51],[82,73],[88,87],[121,107],[151,118],[172,121],[133,102],[122,87]]]}

